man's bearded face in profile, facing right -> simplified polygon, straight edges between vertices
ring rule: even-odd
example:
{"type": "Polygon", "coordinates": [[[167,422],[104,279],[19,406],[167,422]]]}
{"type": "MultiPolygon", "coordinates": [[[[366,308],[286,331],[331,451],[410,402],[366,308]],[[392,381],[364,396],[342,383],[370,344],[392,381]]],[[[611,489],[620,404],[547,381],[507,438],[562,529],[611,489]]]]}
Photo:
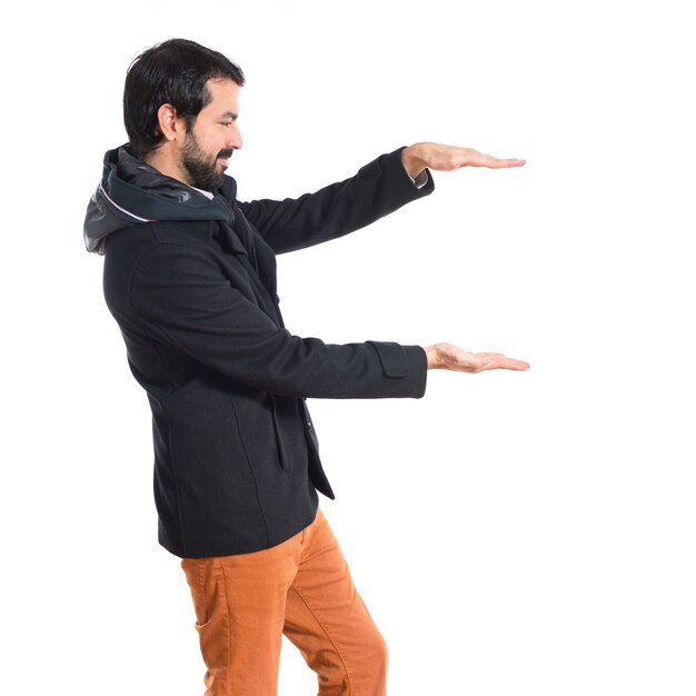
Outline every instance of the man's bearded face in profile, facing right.
{"type": "Polygon", "coordinates": [[[241,147],[237,128],[239,84],[229,79],[208,80],[208,89],[212,100],[186,133],[180,167],[188,183],[212,191],[222,183],[232,152],[241,147]]]}

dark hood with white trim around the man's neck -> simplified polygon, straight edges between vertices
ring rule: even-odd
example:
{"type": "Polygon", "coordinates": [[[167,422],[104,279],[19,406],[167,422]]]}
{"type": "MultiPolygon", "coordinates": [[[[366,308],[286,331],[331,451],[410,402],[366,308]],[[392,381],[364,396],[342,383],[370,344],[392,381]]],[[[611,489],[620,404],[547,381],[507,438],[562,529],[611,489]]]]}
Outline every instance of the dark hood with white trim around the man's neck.
{"type": "Polygon", "coordinates": [[[137,159],[130,146],[109,150],[103,175],[84,216],[84,246],[103,253],[109,235],[157,220],[225,220],[233,222],[237,182],[226,176],[209,199],[198,190],[167,177],[137,159]]]}

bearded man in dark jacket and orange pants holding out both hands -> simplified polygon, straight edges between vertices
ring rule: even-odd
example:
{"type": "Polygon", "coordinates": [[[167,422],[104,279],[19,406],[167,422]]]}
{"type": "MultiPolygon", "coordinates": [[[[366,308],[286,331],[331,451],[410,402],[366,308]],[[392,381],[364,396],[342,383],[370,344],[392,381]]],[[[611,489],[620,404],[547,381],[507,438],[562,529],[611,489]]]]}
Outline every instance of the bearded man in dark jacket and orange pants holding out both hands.
{"type": "Polygon", "coordinates": [[[152,409],[160,544],[182,558],[208,695],[276,694],[281,634],[319,693],[385,694],[386,650],[317,490],[334,494],[305,399],[421,397],[428,369],[529,366],[450,344],[326,345],[282,324],[275,255],[427,196],[429,169],[516,167],[418,143],[297,200],[236,199],[238,66],[170,40],[131,64],[129,145],[107,152],[84,238],[152,409]]]}

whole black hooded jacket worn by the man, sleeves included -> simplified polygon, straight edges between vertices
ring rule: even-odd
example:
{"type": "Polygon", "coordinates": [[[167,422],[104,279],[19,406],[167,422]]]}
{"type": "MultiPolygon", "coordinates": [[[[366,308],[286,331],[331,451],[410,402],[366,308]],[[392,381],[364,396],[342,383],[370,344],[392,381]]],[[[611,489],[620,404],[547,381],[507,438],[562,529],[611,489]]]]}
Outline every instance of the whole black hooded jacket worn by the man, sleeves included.
{"type": "Polygon", "coordinates": [[[159,541],[180,557],[248,553],[310,524],[334,497],[305,399],[420,397],[426,355],[391,342],[292,336],[276,253],[335,239],[432,190],[400,149],[296,200],[212,200],[107,152],[84,222],[103,291],[152,410],[159,541]]]}

